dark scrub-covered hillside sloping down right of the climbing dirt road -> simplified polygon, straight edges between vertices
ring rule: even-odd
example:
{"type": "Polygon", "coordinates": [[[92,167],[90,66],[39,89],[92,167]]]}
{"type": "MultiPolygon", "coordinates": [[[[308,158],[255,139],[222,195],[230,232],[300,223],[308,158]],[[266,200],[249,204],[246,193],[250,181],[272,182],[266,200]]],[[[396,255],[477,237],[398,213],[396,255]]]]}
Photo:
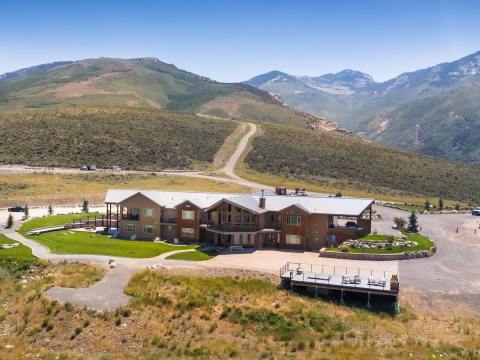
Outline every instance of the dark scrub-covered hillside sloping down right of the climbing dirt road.
{"type": "Polygon", "coordinates": [[[260,173],[372,194],[480,201],[480,168],[389,149],[356,137],[262,125],[245,161],[260,173]]]}

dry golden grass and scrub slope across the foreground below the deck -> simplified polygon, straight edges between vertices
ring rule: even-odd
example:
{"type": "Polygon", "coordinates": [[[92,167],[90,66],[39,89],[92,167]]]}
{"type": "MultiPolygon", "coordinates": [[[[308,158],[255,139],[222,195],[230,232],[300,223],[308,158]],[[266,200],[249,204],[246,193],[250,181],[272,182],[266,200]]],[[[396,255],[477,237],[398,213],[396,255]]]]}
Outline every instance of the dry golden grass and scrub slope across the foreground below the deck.
{"type": "Polygon", "coordinates": [[[408,308],[392,317],[292,295],[259,279],[150,271],[132,278],[126,292],[135,300],[129,306],[94,313],[43,299],[53,281],[41,277],[22,287],[2,276],[0,347],[14,346],[2,358],[479,356],[478,317],[414,314],[408,308]]]}

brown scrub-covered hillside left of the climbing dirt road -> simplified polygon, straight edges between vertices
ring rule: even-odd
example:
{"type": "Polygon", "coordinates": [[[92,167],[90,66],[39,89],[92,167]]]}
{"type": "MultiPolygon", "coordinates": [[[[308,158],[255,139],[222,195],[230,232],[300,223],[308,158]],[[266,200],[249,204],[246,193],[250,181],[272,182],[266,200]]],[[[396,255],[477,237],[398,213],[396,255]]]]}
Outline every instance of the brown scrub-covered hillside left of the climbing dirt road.
{"type": "Polygon", "coordinates": [[[236,126],[231,120],[140,108],[7,112],[0,114],[0,163],[191,169],[211,163],[236,126]]]}

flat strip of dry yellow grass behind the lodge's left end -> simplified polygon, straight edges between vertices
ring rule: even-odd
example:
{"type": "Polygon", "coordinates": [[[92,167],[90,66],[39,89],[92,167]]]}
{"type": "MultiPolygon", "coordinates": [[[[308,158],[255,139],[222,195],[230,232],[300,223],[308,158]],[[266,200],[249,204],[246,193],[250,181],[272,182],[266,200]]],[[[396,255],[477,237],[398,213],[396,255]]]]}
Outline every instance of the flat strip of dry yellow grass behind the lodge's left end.
{"type": "Polygon", "coordinates": [[[222,181],[180,176],[135,174],[0,174],[0,206],[81,204],[86,194],[91,204],[101,204],[108,188],[245,192],[222,181]]]}

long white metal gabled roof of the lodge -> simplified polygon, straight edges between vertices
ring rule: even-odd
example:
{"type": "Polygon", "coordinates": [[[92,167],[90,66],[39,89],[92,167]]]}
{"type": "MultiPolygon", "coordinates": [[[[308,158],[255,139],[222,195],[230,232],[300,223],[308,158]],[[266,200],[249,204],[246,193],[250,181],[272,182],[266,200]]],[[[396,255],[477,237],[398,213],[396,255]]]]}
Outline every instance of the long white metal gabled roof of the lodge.
{"type": "Polygon", "coordinates": [[[290,206],[296,206],[309,214],[329,214],[339,216],[358,216],[370,204],[373,199],[360,199],[351,197],[328,197],[328,196],[296,196],[267,194],[265,208],[261,208],[261,194],[231,194],[209,193],[189,191],[161,191],[161,190],[108,190],[105,197],[106,203],[118,204],[126,199],[142,194],[159,206],[175,208],[176,206],[190,201],[200,209],[209,210],[226,201],[257,214],[268,211],[282,211],[290,206]]]}

